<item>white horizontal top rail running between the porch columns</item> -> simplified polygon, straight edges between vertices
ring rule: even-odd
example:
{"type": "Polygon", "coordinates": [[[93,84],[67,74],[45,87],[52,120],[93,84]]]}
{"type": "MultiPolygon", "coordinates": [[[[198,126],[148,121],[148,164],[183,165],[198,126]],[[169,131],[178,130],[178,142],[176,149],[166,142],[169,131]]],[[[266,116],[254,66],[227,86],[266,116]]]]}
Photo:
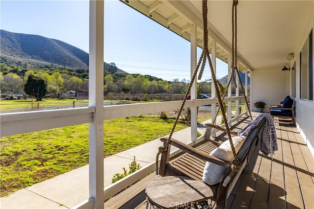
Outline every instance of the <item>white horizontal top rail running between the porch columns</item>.
{"type": "MultiPolygon", "coordinates": [[[[243,98],[243,96],[233,96],[225,98],[224,101],[235,101],[243,98]]],[[[195,102],[197,102],[197,106],[202,106],[214,104],[217,102],[217,99],[188,100],[186,101],[184,108],[194,106],[193,104],[195,102]]],[[[181,103],[182,101],[170,101],[104,106],[103,119],[108,120],[120,117],[155,114],[162,111],[177,110],[180,108],[181,103]]],[[[89,123],[93,121],[92,114],[94,112],[94,107],[85,107],[0,114],[0,137],[89,123]]]]}

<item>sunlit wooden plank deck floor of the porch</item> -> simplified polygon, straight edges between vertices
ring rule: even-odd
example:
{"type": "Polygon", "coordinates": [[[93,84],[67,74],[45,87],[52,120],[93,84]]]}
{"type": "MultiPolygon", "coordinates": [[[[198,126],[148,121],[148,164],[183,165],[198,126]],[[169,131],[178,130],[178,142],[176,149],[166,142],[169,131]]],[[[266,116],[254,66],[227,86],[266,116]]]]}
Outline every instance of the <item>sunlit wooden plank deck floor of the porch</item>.
{"type": "MultiPolygon", "coordinates": [[[[250,122],[242,119],[234,131],[250,122]]],[[[290,120],[274,122],[278,151],[271,158],[259,147],[251,149],[252,160],[229,196],[227,209],[314,209],[314,158],[290,120]]],[[[143,202],[137,209],[145,207],[143,202]]]]}

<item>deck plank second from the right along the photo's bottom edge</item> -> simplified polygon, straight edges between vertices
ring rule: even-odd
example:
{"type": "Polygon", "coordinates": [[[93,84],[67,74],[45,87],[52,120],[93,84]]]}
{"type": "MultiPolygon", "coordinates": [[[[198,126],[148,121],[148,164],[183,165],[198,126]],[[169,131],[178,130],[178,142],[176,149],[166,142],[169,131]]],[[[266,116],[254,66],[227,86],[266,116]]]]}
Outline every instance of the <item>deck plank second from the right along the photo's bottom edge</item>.
{"type": "Polygon", "coordinates": [[[282,125],[281,129],[287,208],[304,208],[300,187],[296,186],[299,185],[299,181],[292,157],[293,153],[291,152],[287,128],[282,125]]]}

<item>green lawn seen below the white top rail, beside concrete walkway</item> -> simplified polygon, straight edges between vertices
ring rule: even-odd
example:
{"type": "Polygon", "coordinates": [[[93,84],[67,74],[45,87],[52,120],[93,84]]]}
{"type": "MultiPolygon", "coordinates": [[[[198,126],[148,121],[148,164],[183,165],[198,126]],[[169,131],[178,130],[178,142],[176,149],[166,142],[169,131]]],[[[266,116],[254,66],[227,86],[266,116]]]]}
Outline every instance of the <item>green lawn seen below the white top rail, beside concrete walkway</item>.
{"type": "MultiPolygon", "coordinates": [[[[169,134],[173,121],[158,116],[106,120],[104,157],[169,134]]],[[[185,127],[181,122],[176,131],[185,127]]],[[[0,196],[88,163],[88,124],[3,137],[0,143],[0,196]]]]}

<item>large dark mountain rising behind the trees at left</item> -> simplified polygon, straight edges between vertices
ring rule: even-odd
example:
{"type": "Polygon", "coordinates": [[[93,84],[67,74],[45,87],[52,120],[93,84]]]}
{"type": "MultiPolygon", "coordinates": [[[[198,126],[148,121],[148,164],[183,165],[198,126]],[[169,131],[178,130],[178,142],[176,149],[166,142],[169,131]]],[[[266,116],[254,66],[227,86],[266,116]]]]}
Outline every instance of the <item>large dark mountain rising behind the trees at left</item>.
{"type": "MultiPolygon", "coordinates": [[[[85,51],[56,39],[0,30],[0,59],[8,66],[88,70],[88,57],[85,51]]],[[[126,73],[107,63],[104,69],[126,73]]]]}

